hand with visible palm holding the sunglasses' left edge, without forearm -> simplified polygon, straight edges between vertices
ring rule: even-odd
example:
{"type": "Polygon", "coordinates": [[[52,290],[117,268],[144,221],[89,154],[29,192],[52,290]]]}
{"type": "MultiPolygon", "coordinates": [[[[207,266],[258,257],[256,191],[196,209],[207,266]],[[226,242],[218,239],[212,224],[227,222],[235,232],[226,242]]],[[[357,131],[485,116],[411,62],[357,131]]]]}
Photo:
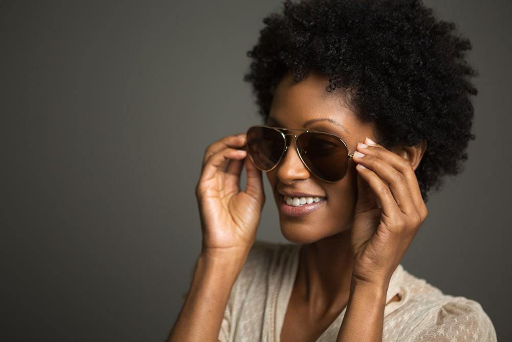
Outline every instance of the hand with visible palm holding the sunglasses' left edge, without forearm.
{"type": "Polygon", "coordinates": [[[254,243],[265,193],[262,172],[237,149],[245,140],[245,133],[229,135],[206,148],[196,187],[203,251],[246,252],[254,243]],[[241,191],[244,161],[247,186],[241,191]]]}

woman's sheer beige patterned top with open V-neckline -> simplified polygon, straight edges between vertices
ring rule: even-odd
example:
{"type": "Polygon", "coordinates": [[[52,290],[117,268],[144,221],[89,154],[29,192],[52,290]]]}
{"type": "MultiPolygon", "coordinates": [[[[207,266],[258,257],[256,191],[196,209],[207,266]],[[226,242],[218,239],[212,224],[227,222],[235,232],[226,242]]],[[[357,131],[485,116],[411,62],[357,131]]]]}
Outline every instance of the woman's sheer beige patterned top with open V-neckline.
{"type": "MultiPolygon", "coordinates": [[[[301,245],[257,241],[233,284],[219,340],[278,342],[295,281],[301,245]]],[[[383,341],[496,341],[492,321],[477,301],[443,294],[408,273],[393,273],[383,341]]],[[[345,309],[317,342],[335,341],[345,309]]]]}

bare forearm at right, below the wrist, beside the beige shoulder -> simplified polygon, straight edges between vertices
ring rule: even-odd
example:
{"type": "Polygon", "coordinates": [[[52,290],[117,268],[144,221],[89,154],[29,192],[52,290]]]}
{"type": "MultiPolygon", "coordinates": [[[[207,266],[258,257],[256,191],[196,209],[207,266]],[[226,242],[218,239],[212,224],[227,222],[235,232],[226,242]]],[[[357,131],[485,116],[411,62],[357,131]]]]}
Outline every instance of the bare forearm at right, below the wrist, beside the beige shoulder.
{"type": "Polygon", "coordinates": [[[352,280],[347,310],[337,341],[382,341],[389,284],[366,285],[352,280]]]}

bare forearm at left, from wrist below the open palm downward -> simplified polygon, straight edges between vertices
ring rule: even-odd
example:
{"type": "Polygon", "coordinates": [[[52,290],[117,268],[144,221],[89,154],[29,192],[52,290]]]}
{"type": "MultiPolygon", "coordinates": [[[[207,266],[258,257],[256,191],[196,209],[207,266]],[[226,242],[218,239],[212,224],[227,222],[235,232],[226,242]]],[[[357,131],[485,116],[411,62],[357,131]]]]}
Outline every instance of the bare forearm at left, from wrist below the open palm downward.
{"type": "Polygon", "coordinates": [[[247,252],[201,253],[171,341],[216,341],[229,294],[247,252]]]}

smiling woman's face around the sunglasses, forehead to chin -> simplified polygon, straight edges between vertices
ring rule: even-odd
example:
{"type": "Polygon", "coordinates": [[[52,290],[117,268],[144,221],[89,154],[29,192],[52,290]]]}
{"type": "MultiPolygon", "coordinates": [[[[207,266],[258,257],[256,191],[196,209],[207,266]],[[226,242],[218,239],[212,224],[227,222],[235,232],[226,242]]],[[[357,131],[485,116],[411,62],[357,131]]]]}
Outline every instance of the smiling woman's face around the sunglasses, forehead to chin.
{"type": "MultiPolygon", "coordinates": [[[[335,134],[345,141],[349,153],[354,153],[357,143],[362,143],[367,136],[378,141],[374,126],[361,123],[348,109],[340,89],[329,93],[328,85],[329,77],[315,70],[297,84],[293,84],[292,74],[288,73],[274,92],[268,125],[335,134]],[[303,127],[313,119],[325,120],[303,127]]],[[[344,178],[336,183],[324,182],[304,166],[295,149],[295,140],[290,139],[290,147],[279,165],[266,173],[278,205],[281,231],[287,240],[305,245],[351,228],[357,201],[357,171],[352,159],[348,165],[344,178]],[[301,192],[325,198],[315,210],[291,216],[281,209],[284,198],[280,192],[301,192]]]]}

